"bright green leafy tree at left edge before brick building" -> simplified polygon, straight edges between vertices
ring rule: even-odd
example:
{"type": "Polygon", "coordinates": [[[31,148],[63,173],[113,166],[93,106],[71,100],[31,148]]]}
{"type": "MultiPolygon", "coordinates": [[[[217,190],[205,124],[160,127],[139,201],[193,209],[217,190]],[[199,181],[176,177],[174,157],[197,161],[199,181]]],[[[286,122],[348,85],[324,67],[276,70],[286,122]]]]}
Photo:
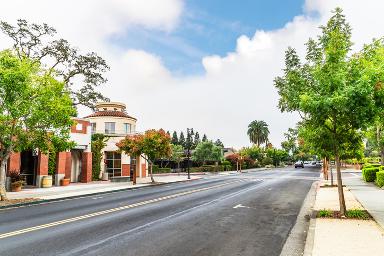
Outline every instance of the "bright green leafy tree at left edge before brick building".
{"type": "Polygon", "coordinates": [[[40,64],[11,51],[0,52],[0,199],[6,200],[5,164],[11,152],[39,148],[49,152],[69,140],[72,100],[62,82],[40,64]]]}

